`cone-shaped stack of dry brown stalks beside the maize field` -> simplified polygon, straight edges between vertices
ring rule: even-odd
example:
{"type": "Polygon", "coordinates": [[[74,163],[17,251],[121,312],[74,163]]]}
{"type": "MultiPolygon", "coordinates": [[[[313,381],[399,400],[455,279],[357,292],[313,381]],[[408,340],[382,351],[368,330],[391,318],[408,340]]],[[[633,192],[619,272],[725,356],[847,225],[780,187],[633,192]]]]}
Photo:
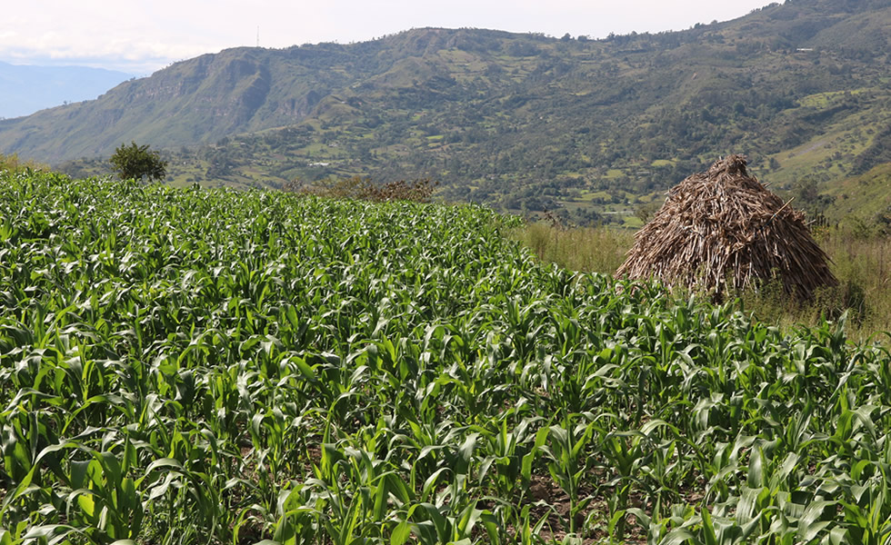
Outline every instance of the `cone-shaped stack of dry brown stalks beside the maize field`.
{"type": "Polygon", "coordinates": [[[787,293],[810,299],[838,282],[804,213],[788,204],[746,173],[746,157],[718,160],[668,191],[616,276],[656,277],[720,299],[727,282],[741,290],[776,275],[787,293]]]}

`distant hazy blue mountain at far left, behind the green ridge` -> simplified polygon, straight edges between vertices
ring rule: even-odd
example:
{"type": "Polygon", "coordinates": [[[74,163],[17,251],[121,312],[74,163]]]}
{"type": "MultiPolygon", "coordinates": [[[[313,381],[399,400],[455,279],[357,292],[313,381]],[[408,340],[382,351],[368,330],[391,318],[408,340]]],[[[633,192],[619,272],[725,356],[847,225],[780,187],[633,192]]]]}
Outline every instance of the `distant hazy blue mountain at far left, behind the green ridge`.
{"type": "Polygon", "coordinates": [[[0,118],[94,99],[133,76],[85,66],[0,63],[0,118]]]}

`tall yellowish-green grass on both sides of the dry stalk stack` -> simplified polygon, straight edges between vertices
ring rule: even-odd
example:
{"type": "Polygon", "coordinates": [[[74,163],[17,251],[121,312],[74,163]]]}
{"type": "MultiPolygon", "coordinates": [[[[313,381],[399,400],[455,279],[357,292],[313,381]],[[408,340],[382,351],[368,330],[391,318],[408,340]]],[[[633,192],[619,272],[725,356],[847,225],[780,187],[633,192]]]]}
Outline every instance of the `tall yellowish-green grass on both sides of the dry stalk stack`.
{"type": "MultiPolygon", "coordinates": [[[[844,225],[814,234],[832,260],[838,285],[817,292],[814,301],[802,303],[786,296],[779,283],[768,282],[739,293],[740,308],[785,330],[816,326],[848,312],[853,338],[891,332],[891,238],[844,225]]],[[[528,223],[516,230],[514,238],[544,263],[604,274],[616,272],[634,243],[634,233],[628,230],[566,228],[556,223],[528,223]]]]}

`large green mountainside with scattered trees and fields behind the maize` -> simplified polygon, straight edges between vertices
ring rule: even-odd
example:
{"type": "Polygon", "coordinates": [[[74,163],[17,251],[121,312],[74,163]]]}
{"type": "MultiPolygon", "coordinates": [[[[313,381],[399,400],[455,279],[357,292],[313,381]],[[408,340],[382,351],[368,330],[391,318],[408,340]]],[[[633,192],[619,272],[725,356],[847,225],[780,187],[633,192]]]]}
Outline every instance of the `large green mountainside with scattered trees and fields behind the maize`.
{"type": "Polygon", "coordinates": [[[889,38],[886,0],[789,0],[604,40],[424,28],[238,48],[0,122],[0,151],[92,173],[135,140],[166,150],[175,183],[430,176],[447,199],[633,223],[717,155],[789,191],[891,162],[889,38]]]}

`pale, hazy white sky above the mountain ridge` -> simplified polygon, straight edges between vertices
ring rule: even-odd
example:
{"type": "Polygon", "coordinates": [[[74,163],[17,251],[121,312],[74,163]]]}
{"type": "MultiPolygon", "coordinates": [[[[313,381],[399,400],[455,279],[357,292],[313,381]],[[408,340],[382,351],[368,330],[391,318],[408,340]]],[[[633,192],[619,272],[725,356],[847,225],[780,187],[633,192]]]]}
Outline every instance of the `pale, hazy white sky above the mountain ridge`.
{"type": "Polygon", "coordinates": [[[150,74],[227,47],[360,42],[410,28],[494,28],[600,38],[683,30],[772,0],[27,0],[5,5],[0,61],[150,74]]]}

